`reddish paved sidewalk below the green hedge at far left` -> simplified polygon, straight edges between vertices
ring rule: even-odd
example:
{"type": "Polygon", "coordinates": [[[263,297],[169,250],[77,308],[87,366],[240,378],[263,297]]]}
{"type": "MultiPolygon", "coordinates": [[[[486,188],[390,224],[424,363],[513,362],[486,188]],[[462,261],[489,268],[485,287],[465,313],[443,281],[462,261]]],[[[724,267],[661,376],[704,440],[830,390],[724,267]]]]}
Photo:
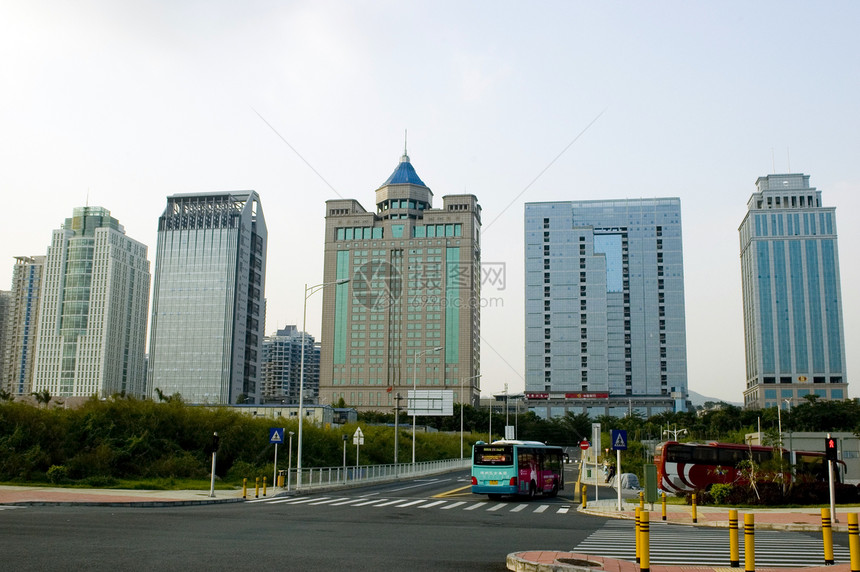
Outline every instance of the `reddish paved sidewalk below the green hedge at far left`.
{"type": "MultiPolygon", "coordinates": [[[[279,489],[280,491],[280,489],[279,489]]],[[[274,491],[269,489],[269,496],[274,491]]],[[[262,492],[260,493],[262,496],[262,492]]],[[[254,498],[254,489],[248,490],[254,498]]],[[[0,505],[82,505],[82,506],[185,506],[242,501],[242,489],[216,490],[215,497],[205,490],[156,491],[132,489],[78,489],[62,487],[0,486],[0,505]]]]}

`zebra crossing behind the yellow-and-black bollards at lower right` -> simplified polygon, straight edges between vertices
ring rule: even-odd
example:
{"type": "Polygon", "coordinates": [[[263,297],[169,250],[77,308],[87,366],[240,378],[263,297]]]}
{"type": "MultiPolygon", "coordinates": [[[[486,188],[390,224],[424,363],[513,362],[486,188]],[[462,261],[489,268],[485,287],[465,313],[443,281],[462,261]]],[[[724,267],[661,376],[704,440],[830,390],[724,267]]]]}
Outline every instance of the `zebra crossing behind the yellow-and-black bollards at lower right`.
{"type": "MultiPolygon", "coordinates": [[[[579,543],[574,552],[636,561],[635,523],[610,520],[579,543]]],[[[740,531],[740,563],[744,562],[744,533],[740,531]]],[[[726,528],[650,523],[651,564],[728,566],[729,531],[726,528]]],[[[836,563],[850,562],[848,548],[833,546],[836,563]]],[[[756,566],[790,567],[824,565],[821,537],[797,532],[757,530],[756,566]]]]}

